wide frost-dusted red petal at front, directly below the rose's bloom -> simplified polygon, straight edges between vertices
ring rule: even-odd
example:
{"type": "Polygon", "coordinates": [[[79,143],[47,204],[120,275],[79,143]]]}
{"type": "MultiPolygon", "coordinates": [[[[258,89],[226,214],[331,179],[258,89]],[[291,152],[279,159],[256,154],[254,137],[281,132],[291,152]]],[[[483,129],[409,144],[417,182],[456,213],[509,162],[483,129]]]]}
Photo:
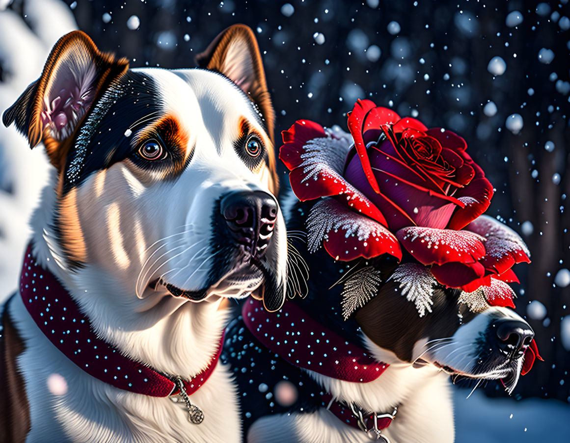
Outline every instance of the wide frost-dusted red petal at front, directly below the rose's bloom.
{"type": "Polygon", "coordinates": [[[485,255],[485,239],[470,231],[408,226],[396,232],[396,236],[414,259],[424,265],[473,263],[485,255]]]}

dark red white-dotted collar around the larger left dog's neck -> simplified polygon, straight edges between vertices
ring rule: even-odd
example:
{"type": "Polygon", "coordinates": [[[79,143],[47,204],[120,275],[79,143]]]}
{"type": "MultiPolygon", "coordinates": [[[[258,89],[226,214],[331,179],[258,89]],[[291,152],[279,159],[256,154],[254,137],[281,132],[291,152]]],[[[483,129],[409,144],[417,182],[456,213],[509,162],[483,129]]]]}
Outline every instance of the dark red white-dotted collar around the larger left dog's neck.
{"type": "MultiPolygon", "coordinates": [[[[124,391],[168,397],[180,392],[168,376],[121,354],[117,348],[95,334],[67,290],[54,274],[38,265],[28,245],[20,293],[31,317],[44,335],[62,354],[87,374],[124,391]]],[[[190,380],[183,380],[188,395],[196,392],[209,378],[222,352],[224,335],[209,365],[190,380]]]]}

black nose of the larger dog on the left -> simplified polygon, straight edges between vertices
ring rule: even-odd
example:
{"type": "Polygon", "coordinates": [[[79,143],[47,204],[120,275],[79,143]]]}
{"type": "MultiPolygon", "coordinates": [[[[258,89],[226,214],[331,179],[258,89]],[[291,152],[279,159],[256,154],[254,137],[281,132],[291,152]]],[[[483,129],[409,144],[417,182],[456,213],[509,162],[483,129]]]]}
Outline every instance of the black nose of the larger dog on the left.
{"type": "Polygon", "coordinates": [[[274,196],[263,191],[234,191],[222,198],[220,209],[234,239],[252,256],[263,255],[277,220],[274,196]]]}

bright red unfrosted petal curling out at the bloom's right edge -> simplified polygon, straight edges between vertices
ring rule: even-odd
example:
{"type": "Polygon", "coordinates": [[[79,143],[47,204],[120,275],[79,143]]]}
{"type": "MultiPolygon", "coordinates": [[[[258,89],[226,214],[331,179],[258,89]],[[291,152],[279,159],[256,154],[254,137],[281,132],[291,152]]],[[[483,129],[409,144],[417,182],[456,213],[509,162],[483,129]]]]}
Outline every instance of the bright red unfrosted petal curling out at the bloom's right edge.
{"type": "Polygon", "coordinates": [[[464,228],[487,210],[491,204],[493,187],[484,177],[474,178],[466,187],[459,188],[454,196],[465,203],[465,208],[457,208],[455,214],[451,216],[447,228],[458,230],[464,228]]]}

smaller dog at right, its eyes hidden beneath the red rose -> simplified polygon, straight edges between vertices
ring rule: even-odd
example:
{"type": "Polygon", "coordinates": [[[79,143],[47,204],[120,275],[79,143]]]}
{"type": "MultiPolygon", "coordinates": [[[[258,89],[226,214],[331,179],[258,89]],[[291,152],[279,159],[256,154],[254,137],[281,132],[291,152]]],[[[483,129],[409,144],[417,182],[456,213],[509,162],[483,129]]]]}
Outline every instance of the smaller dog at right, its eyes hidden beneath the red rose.
{"type": "MultiPolygon", "coordinates": [[[[288,232],[306,229],[313,205],[286,205],[288,232]]],[[[407,266],[421,265],[340,262],[297,243],[310,268],[306,298],[277,313],[247,300],[226,334],[222,359],[242,389],[246,441],[453,442],[449,374],[514,389],[534,336],[515,311],[434,285],[420,316],[405,291],[422,285],[407,266]],[[378,275],[373,268],[383,270],[381,289],[351,307],[378,275]]]]}

